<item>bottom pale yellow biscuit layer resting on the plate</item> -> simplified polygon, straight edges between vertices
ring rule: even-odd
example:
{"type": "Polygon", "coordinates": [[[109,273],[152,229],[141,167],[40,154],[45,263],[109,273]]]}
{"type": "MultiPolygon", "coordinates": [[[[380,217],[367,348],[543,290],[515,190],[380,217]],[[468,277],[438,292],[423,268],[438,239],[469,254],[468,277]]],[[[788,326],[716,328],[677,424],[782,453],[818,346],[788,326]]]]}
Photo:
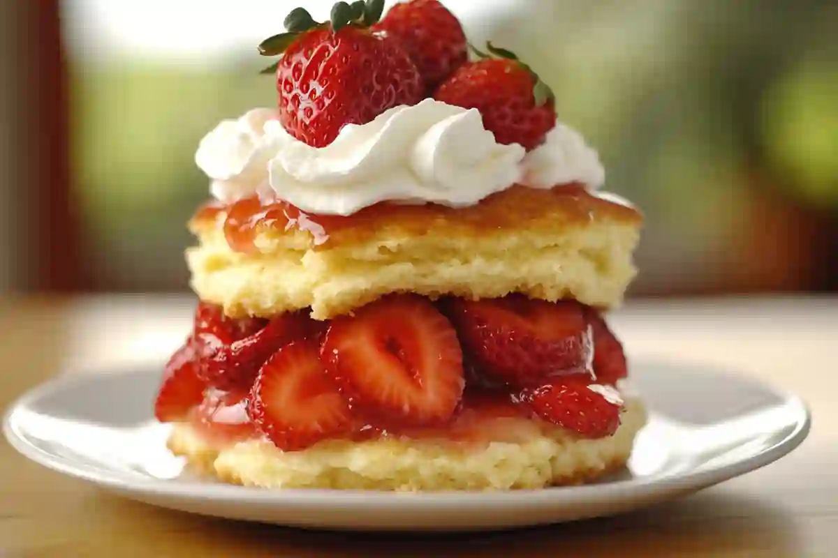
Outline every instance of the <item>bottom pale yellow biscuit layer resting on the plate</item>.
{"type": "Polygon", "coordinates": [[[550,435],[480,447],[428,440],[334,440],[298,452],[282,452],[264,441],[216,451],[181,423],[174,426],[168,448],[200,473],[270,489],[538,489],[583,484],[623,468],[645,422],[643,404],[629,399],[622,424],[608,438],[577,438],[556,427],[550,435]]]}

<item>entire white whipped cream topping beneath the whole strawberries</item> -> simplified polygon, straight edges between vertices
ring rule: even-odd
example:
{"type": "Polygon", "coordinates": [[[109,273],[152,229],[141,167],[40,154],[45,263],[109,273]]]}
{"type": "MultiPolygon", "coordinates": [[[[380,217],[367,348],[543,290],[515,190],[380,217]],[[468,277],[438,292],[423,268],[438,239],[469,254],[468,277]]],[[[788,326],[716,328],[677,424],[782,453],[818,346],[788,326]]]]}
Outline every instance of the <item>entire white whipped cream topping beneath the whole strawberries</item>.
{"type": "Polygon", "coordinates": [[[515,183],[600,187],[597,152],[558,124],[530,153],[502,145],[478,110],[437,100],[386,110],[364,125],[345,125],[328,146],[312,147],[282,128],[272,109],[224,120],[200,142],[195,162],[221,202],[258,195],[303,211],[350,215],[378,202],[467,207],[515,183]]]}

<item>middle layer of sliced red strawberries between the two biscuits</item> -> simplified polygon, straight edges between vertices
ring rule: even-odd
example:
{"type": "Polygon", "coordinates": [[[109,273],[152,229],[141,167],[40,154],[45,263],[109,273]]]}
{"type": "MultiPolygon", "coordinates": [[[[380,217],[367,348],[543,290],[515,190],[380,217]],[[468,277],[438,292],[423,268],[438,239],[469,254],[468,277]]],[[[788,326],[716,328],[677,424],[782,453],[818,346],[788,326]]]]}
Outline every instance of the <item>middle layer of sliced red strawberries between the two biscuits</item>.
{"type": "Polygon", "coordinates": [[[168,361],[155,415],[209,443],[266,438],[507,441],[556,426],[604,438],[620,424],[623,348],[597,310],[518,294],[387,296],[354,315],[231,320],[200,303],[168,361]]]}

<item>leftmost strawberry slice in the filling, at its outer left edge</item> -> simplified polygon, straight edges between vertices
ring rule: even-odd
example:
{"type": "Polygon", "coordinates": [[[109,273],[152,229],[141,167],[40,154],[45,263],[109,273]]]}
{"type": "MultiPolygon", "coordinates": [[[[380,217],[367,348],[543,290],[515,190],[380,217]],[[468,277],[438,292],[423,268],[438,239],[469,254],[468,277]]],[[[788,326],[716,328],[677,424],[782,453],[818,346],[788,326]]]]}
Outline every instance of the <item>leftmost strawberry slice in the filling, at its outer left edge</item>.
{"type": "Polygon", "coordinates": [[[196,375],[198,356],[194,342],[188,340],[166,364],[154,416],[160,422],[186,420],[189,412],[204,399],[206,384],[196,375]]]}

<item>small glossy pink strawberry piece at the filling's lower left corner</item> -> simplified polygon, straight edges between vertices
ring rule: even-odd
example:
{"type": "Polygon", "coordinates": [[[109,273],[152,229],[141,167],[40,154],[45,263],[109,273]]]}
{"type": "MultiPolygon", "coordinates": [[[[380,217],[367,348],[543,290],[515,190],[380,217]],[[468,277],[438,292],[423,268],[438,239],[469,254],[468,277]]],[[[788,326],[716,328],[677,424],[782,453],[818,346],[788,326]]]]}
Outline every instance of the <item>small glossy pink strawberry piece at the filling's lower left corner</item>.
{"type": "Polygon", "coordinates": [[[256,437],[258,429],[247,414],[250,390],[210,390],[194,409],[192,423],[198,432],[214,442],[235,443],[256,437]]]}

